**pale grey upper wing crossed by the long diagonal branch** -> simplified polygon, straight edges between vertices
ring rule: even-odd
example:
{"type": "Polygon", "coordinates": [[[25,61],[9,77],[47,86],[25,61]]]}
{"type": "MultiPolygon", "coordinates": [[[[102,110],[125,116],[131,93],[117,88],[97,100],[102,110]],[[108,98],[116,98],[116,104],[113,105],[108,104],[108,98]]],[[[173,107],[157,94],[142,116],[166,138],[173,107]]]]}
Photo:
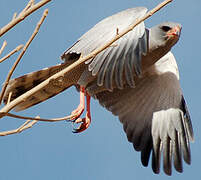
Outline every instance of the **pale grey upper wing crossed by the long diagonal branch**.
{"type": "MultiPolygon", "coordinates": [[[[144,16],[146,12],[147,9],[144,7],[131,8],[102,20],[69,48],[62,55],[62,59],[68,61],[72,53],[81,53],[83,56],[89,54],[144,16]]],[[[123,88],[125,76],[127,84],[134,87],[133,74],[141,73],[141,56],[147,52],[146,34],[143,22],[86,62],[89,64],[88,70],[92,72],[92,75],[98,76],[99,86],[104,84],[107,89],[112,90],[113,80],[115,80],[116,86],[123,88]]]]}

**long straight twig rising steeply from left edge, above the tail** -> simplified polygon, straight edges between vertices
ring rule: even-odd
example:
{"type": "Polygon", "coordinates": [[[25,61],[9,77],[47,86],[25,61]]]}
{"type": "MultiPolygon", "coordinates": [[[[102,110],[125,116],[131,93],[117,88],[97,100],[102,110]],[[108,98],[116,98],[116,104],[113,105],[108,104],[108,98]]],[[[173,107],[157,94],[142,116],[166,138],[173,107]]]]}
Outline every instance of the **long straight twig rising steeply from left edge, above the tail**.
{"type": "Polygon", "coordinates": [[[20,62],[22,56],[24,55],[24,53],[26,52],[27,48],[29,47],[29,45],[31,44],[32,40],[35,38],[35,36],[37,35],[39,29],[40,29],[40,26],[42,25],[42,23],[44,22],[45,18],[47,17],[47,14],[48,14],[48,9],[46,9],[40,19],[40,21],[38,22],[33,34],[31,35],[31,37],[29,38],[29,40],[27,41],[27,43],[25,44],[22,52],[20,53],[20,55],[18,56],[17,60],[15,61],[13,67],[11,68],[11,70],[9,71],[8,73],[8,76],[4,82],[4,85],[3,85],[3,88],[2,88],[2,91],[1,91],[1,95],[0,95],[0,104],[2,102],[2,99],[3,99],[3,96],[4,96],[4,93],[6,91],[6,88],[8,86],[8,83],[9,83],[9,80],[15,70],[15,68],[17,67],[18,63],[20,62]]]}

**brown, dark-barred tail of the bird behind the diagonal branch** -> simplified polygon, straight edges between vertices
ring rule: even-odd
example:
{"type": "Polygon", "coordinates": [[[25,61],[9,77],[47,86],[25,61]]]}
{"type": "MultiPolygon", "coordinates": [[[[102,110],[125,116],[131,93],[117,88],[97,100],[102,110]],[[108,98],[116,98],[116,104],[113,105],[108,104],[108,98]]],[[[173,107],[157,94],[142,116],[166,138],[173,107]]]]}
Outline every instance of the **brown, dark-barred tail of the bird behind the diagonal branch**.
{"type": "MultiPolygon", "coordinates": [[[[56,66],[52,66],[49,68],[42,69],[40,71],[32,72],[29,74],[25,74],[24,76],[18,77],[16,79],[12,79],[9,82],[7,90],[4,96],[4,103],[6,104],[8,101],[8,96],[12,92],[11,101],[34,88],[50,76],[56,74],[61,71],[65,67],[67,67],[69,63],[63,63],[56,66]]],[[[68,87],[75,84],[79,77],[76,77],[76,73],[72,71],[68,74],[65,74],[64,78],[61,81],[53,81],[50,82],[47,86],[28,97],[24,102],[20,103],[15,107],[16,111],[21,111],[27,109],[33,105],[36,105],[40,102],[43,102],[60,92],[64,91],[68,87]]],[[[77,75],[78,76],[78,75],[77,75]]]]}

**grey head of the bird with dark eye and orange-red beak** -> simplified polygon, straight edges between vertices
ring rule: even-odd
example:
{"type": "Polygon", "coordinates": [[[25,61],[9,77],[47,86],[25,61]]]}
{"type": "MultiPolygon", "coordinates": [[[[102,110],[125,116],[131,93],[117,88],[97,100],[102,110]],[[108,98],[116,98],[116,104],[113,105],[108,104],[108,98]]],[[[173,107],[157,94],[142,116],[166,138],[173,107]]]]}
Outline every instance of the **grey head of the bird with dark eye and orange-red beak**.
{"type": "Polygon", "coordinates": [[[159,46],[173,46],[179,40],[181,24],[175,22],[163,22],[151,28],[152,40],[159,46]]]}

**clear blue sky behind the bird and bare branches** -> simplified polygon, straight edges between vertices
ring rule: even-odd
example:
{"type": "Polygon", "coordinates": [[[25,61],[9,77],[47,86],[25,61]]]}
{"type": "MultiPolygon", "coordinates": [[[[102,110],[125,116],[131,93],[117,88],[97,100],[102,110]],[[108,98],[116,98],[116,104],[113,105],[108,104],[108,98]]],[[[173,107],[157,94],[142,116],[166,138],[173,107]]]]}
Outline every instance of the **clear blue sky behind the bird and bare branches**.
{"type": "MultiPolygon", "coordinates": [[[[19,12],[27,0],[1,0],[0,27],[19,12]]],[[[98,21],[118,11],[146,6],[153,8],[159,0],[74,0],[56,1],[46,5],[49,15],[39,34],[26,52],[13,77],[60,63],[60,55],[84,32],[98,21]]],[[[201,1],[174,0],[149,20],[151,27],[161,21],[182,24],[180,41],[173,48],[180,69],[181,86],[191,114],[195,142],[191,144],[192,164],[184,164],[184,173],[173,171],[172,177],[163,172],[153,174],[151,166],[144,168],[140,154],[127,142],[122,125],[117,117],[92,100],[92,124],[81,134],[72,133],[67,122],[39,122],[21,134],[0,137],[1,180],[120,180],[120,179],[201,179],[201,1]]],[[[8,45],[3,53],[24,44],[32,34],[35,24],[45,8],[37,11],[1,37],[8,45]]],[[[17,55],[0,64],[3,80],[17,55]]],[[[79,103],[79,94],[74,88],[63,92],[21,115],[52,118],[69,114],[79,103]]],[[[19,119],[3,118],[0,130],[13,129],[22,124],[19,119]]]]}

